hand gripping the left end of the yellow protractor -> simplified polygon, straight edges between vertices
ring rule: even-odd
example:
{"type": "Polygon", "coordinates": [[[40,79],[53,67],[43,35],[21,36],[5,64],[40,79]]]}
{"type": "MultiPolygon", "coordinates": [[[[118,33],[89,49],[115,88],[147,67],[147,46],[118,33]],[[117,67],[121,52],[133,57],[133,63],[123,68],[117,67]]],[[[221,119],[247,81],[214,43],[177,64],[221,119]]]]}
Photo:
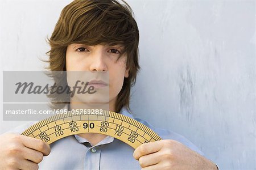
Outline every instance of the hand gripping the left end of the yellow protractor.
{"type": "Polygon", "coordinates": [[[51,148],[40,139],[20,134],[0,135],[0,169],[38,169],[51,148]]]}

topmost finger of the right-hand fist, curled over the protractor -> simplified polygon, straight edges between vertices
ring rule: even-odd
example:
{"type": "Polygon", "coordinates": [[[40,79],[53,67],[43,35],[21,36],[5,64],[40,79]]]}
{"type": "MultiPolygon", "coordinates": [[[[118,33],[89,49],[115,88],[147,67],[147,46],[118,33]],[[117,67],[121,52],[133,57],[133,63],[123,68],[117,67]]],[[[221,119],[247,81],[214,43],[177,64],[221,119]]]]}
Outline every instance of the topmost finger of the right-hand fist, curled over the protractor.
{"type": "Polygon", "coordinates": [[[135,149],[133,152],[133,157],[138,160],[143,155],[152,154],[159,151],[162,146],[163,145],[161,141],[143,143],[135,149]]]}

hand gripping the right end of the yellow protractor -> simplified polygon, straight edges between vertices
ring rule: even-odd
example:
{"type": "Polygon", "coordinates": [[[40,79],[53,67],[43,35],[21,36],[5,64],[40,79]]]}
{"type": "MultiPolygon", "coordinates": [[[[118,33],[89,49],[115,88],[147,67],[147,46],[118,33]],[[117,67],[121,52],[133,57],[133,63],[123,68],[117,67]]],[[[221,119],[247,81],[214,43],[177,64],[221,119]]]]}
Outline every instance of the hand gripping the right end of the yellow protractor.
{"type": "Polygon", "coordinates": [[[210,160],[192,151],[182,143],[165,139],[143,143],[133,156],[146,169],[217,169],[210,160]]]}

